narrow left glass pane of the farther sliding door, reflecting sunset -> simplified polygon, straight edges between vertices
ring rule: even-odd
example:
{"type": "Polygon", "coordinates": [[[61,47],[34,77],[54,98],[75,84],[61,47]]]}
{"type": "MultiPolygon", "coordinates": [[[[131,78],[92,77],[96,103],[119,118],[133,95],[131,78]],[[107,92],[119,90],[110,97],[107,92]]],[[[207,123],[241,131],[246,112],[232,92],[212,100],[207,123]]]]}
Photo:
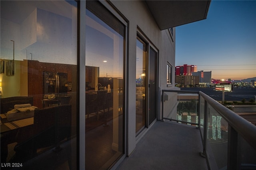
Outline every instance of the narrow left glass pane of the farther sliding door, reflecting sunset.
{"type": "Polygon", "coordinates": [[[136,48],[136,133],[146,125],[146,44],[137,40],[136,48]]]}

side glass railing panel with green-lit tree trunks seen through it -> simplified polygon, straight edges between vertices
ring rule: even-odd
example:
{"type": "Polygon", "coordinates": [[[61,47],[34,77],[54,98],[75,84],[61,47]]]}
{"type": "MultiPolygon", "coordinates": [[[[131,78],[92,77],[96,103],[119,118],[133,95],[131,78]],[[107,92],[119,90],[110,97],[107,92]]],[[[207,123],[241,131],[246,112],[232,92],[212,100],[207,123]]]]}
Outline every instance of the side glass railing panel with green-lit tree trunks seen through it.
{"type": "Polygon", "coordinates": [[[208,126],[206,152],[213,154],[219,169],[227,166],[228,158],[228,123],[210,105],[208,105],[208,126]]]}

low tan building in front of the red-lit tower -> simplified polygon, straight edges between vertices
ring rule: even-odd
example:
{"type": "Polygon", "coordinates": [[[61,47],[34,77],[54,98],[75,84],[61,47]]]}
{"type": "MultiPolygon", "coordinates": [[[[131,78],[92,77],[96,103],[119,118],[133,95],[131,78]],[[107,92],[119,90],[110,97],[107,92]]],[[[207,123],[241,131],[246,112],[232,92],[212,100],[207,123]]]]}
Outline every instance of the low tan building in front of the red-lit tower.
{"type": "Polygon", "coordinates": [[[184,87],[195,87],[199,84],[199,76],[192,76],[192,75],[176,75],[175,76],[175,83],[178,86],[184,87]]]}

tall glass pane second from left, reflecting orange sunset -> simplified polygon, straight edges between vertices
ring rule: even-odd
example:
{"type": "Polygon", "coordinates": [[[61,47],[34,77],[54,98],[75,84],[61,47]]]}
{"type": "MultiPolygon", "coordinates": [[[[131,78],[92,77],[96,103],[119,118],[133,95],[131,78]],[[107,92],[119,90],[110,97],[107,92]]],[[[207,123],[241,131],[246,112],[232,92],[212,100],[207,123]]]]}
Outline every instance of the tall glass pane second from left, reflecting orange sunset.
{"type": "Polygon", "coordinates": [[[124,153],[124,32],[111,27],[117,21],[98,2],[86,5],[85,164],[108,169],[124,153]]]}

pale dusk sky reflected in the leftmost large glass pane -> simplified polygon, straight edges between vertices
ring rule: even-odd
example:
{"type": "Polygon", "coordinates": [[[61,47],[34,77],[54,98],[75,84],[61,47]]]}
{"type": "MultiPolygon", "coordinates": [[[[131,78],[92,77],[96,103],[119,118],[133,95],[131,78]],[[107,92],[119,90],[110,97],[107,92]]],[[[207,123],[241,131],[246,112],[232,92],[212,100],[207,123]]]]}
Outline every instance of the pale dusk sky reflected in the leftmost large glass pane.
{"type": "Polygon", "coordinates": [[[15,60],[31,59],[32,53],[33,60],[76,64],[76,2],[19,3],[1,2],[1,58],[13,58],[14,40],[15,60]]]}

